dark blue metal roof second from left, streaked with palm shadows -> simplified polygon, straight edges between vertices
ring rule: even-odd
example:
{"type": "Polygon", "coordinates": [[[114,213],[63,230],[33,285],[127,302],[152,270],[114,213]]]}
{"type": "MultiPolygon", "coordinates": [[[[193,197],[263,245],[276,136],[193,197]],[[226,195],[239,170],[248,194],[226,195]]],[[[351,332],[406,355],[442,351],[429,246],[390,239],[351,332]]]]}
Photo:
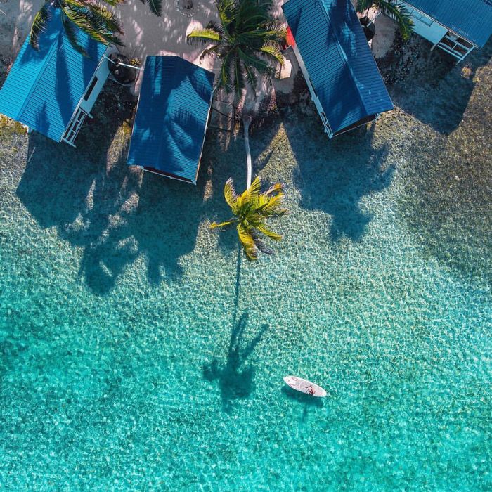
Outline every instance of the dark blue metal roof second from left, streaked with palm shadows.
{"type": "Polygon", "coordinates": [[[214,74],[178,56],[148,56],[128,164],[195,183],[214,74]]]}

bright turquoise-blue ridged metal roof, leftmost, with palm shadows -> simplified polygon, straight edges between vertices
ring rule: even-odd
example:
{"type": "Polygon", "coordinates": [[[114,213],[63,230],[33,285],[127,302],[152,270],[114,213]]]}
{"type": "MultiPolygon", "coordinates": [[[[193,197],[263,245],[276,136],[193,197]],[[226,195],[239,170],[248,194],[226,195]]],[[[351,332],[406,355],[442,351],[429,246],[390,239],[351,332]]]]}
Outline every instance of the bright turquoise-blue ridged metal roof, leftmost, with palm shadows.
{"type": "Polygon", "coordinates": [[[29,37],[22,45],[0,89],[0,112],[59,142],[107,48],[80,30],[77,39],[89,57],[75,51],[52,8],[39,51],[29,37]]]}

